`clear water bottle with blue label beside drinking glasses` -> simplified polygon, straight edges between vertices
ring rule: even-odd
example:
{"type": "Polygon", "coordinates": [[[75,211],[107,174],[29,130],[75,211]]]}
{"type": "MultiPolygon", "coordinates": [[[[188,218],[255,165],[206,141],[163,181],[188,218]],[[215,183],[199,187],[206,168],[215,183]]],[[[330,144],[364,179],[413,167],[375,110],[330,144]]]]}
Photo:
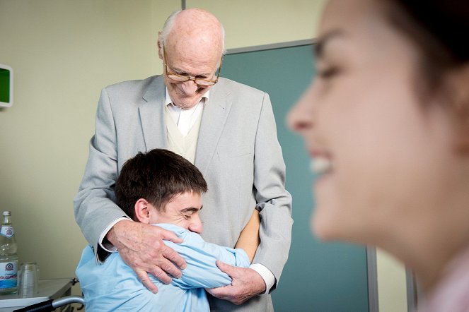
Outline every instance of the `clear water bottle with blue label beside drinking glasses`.
{"type": "Polygon", "coordinates": [[[18,289],[18,255],[11,212],[4,211],[0,230],[0,294],[14,294],[18,289]]]}

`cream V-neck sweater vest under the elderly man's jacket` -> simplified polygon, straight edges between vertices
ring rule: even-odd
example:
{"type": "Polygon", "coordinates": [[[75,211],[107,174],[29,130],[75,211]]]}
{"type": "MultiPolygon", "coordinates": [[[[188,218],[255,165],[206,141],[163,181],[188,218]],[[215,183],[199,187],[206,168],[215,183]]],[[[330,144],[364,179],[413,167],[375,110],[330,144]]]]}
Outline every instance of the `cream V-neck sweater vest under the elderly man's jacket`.
{"type": "Polygon", "coordinates": [[[202,114],[199,115],[194,126],[190,128],[187,136],[183,136],[179,131],[178,125],[175,124],[173,118],[171,118],[170,112],[168,112],[168,106],[166,106],[165,115],[166,133],[168,133],[168,150],[183,156],[186,160],[189,160],[194,164],[202,114]]]}

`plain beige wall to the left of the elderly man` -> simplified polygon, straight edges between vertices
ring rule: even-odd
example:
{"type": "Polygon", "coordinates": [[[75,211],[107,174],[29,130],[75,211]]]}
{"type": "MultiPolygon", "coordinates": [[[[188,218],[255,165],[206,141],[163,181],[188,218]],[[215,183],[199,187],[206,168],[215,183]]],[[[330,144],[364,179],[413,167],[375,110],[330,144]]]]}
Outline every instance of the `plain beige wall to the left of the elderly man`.
{"type": "Polygon", "coordinates": [[[0,210],[41,278],[74,277],[86,241],[72,202],[100,89],[151,75],[151,18],[149,0],[0,1],[0,63],[15,83],[0,111],[0,210]]]}

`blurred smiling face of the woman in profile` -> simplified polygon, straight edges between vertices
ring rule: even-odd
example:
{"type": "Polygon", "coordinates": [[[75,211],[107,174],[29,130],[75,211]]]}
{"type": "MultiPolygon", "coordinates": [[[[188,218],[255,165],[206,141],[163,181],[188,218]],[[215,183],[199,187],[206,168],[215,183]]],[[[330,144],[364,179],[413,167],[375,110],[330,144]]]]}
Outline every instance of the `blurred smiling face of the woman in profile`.
{"type": "Polygon", "coordinates": [[[457,174],[449,116],[419,97],[419,54],[383,2],[328,2],[318,76],[289,114],[318,174],[313,230],[323,239],[374,244],[415,227],[441,210],[457,174]]]}

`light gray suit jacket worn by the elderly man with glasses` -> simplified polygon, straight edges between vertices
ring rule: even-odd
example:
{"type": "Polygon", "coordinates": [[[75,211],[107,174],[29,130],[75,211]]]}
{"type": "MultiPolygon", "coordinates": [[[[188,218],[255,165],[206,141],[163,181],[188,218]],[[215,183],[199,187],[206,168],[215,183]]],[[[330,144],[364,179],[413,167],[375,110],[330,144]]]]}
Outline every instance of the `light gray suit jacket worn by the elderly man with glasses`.
{"type": "MultiPolygon", "coordinates": [[[[165,92],[161,76],[117,83],[101,92],[95,135],[74,199],[76,222],[95,251],[108,224],[124,215],[114,203],[122,165],[137,152],[167,148],[165,92]]],[[[269,268],[278,282],[288,258],[293,221],[269,95],[220,78],[202,113],[195,165],[209,188],[202,199],[204,239],[234,246],[257,208],[261,242],[253,263],[269,268]]],[[[273,310],[270,295],[242,306],[209,300],[212,311],[273,310]]]]}

